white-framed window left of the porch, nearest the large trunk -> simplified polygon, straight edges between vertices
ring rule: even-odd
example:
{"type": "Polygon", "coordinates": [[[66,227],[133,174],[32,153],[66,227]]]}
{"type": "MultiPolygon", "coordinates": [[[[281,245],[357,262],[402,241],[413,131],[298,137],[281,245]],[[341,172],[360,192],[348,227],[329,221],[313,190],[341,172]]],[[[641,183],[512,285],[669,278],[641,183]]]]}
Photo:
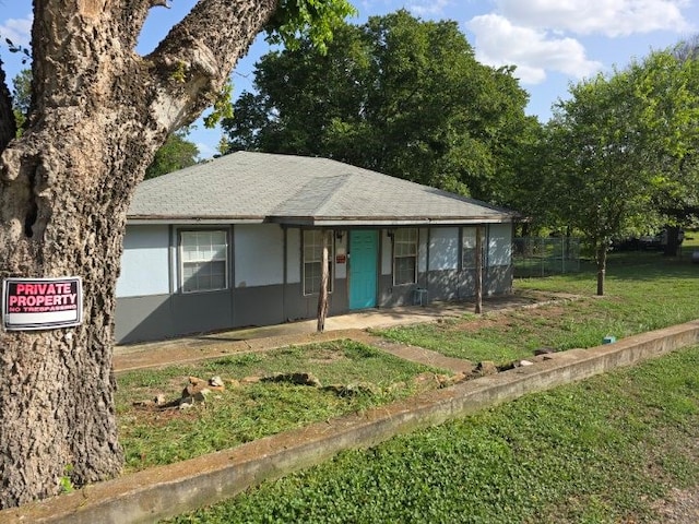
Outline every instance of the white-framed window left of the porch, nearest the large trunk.
{"type": "MultiPolygon", "coordinates": [[[[179,289],[182,294],[210,293],[228,288],[228,231],[226,229],[180,229],[178,231],[178,254],[179,254],[179,289]],[[221,237],[223,236],[223,241],[221,237]],[[218,237],[218,238],[216,238],[218,237]],[[218,241],[217,241],[218,240],[218,241]],[[194,248],[194,249],[189,249],[194,248]],[[188,266],[200,265],[201,269],[211,270],[214,264],[223,263],[222,285],[199,285],[196,275],[187,276],[188,266]],[[189,283],[196,278],[198,285],[190,286],[189,283]]],[[[208,275],[221,276],[220,272],[208,275]]],[[[203,281],[205,276],[201,277],[203,281]]]]}

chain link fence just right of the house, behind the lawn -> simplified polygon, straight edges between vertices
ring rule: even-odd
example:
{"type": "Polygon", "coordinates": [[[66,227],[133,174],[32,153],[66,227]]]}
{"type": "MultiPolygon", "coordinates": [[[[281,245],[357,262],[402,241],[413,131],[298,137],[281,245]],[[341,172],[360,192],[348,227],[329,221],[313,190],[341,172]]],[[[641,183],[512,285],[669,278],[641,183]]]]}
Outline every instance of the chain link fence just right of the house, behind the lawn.
{"type": "Polygon", "coordinates": [[[516,277],[548,276],[580,271],[580,239],[522,237],[512,240],[516,277]]]}

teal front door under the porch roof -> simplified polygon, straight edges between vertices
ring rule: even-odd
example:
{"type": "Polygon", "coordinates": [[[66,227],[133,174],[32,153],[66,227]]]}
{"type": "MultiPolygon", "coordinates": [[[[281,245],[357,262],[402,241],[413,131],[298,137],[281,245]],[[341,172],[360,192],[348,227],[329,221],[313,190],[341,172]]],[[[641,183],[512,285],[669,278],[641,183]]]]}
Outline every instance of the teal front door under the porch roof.
{"type": "Polygon", "coordinates": [[[376,307],[378,231],[350,231],[350,309],[376,307]]]}

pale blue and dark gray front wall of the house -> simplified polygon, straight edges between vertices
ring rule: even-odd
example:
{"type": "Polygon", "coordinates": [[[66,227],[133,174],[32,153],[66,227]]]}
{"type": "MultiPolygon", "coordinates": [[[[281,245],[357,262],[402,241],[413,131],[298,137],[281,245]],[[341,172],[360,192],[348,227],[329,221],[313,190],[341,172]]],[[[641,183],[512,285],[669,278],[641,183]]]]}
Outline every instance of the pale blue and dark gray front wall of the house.
{"type": "MultiPolygon", "coordinates": [[[[193,226],[196,227],[196,226],[193,226]]],[[[305,296],[301,285],[301,234],[274,224],[208,226],[229,231],[227,289],[178,293],[177,231],[186,226],[130,226],[125,240],[122,276],[117,291],[117,341],[157,340],[190,333],[275,324],[315,318],[318,296],[305,296]]],[[[392,241],[380,231],[377,260],[379,308],[429,301],[470,299],[475,272],[462,267],[462,228],[420,228],[417,283],[394,286],[392,241]],[[427,289],[417,295],[416,289],[427,289]]],[[[335,239],[335,254],[346,249],[345,233],[335,239]]],[[[486,228],[484,294],[510,293],[511,225],[486,228]]],[[[330,314],[348,308],[347,265],[334,265],[330,314]]]]}

